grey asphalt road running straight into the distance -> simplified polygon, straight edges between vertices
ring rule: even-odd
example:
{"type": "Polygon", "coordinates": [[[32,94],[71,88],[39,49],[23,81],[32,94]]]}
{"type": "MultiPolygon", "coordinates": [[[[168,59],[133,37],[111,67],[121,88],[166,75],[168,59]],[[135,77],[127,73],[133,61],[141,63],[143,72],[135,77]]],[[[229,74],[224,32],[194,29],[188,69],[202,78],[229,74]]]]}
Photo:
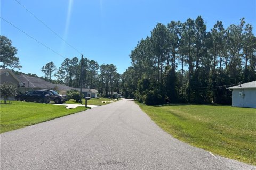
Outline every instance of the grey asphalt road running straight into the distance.
{"type": "Polygon", "coordinates": [[[1,169],[256,169],[180,142],[126,99],[0,137],[1,169]]]}

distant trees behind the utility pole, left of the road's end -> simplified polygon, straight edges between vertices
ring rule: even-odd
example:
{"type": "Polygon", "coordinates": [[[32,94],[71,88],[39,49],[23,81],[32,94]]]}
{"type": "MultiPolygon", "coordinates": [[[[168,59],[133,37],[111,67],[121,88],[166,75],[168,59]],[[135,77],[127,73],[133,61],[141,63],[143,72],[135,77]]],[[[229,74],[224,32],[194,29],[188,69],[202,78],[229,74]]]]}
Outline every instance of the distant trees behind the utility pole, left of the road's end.
{"type": "Polygon", "coordinates": [[[53,62],[49,62],[41,70],[45,74],[44,80],[55,84],[80,88],[82,82],[82,88],[95,88],[104,97],[111,96],[114,91],[120,92],[121,75],[117,73],[116,66],[113,64],[99,65],[97,61],[89,60],[89,58],[79,60],[79,58],[73,57],[66,58],[59,69],[53,62]],[[57,80],[52,80],[53,76],[57,80]]]}

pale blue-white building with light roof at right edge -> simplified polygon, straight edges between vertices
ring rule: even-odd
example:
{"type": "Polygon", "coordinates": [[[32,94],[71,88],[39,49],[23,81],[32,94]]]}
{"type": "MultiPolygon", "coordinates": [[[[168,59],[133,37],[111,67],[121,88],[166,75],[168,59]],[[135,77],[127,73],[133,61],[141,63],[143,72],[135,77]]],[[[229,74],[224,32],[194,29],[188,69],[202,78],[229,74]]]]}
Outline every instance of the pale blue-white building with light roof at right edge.
{"type": "Polygon", "coordinates": [[[256,81],[227,89],[232,91],[232,106],[256,108],[256,81]]]}

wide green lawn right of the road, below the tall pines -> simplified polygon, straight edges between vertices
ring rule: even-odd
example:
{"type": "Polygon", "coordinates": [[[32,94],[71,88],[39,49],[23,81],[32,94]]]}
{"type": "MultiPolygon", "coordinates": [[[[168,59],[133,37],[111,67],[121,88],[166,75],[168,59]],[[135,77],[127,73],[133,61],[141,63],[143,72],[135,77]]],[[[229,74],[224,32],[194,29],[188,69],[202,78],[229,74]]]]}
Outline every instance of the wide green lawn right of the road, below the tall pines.
{"type": "Polygon", "coordinates": [[[173,137],[214,154],[256,165],[256,109],[138,105],[173,137]]]}

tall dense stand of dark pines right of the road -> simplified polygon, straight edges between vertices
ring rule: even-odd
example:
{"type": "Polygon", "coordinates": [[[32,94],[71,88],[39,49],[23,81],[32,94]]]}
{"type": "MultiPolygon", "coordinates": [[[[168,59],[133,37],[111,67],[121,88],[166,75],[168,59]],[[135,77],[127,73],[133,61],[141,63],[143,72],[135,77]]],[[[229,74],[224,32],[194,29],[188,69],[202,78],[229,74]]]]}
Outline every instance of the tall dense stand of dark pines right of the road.
{"type": "Polygon", "coordinates": [[[230,104],[226,88],[256,80],[256,37],[242,18],[226,29],[217,21],[210,31],[201,16],[186,22],[157,23],[139,41],[122,75],[126,98],[145,104],[230,104]]]}

